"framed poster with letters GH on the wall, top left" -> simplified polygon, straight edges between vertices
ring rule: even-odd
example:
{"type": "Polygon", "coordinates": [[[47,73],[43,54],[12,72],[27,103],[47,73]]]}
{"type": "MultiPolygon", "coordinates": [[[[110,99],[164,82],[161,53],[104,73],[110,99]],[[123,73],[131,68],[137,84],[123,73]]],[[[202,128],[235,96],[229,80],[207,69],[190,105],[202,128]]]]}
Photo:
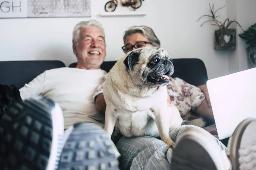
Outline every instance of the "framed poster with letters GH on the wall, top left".
{"type": "Polygon", "coordinates": [[[0,0],[0,18],[90,16],[90,0],[0,0]]]}

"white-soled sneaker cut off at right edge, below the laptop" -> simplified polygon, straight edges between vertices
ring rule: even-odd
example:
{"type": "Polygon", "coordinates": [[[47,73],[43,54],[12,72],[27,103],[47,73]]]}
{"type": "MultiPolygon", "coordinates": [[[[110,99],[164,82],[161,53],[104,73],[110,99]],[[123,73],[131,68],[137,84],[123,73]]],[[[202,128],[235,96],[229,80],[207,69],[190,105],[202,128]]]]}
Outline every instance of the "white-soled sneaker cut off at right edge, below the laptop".
{"type": "Polygon", "coordinates": [[[255,170],[256,119],[245,119],[234,130],[227,146],[233,169],[255,170]]]}

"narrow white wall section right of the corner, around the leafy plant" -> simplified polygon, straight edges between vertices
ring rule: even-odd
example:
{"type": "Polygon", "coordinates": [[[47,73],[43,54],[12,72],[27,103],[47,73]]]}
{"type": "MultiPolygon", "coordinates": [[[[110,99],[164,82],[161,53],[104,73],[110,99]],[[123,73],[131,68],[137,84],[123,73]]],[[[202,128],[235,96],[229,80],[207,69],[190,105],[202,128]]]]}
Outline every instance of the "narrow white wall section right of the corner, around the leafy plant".
{"type": "MultiPolygon", "coordinates": [[[[256,0],[227,0],[227,17],[236,19],[244,30],[256,23],[256,0]]],[[[229,74],[248,69],[248,57],[245,40],[241,39],[238,34],[242,29],[235,23],[230,28],[237,29],[237,46],[236,51],[231,51],[229,55],[229,74]]]]}

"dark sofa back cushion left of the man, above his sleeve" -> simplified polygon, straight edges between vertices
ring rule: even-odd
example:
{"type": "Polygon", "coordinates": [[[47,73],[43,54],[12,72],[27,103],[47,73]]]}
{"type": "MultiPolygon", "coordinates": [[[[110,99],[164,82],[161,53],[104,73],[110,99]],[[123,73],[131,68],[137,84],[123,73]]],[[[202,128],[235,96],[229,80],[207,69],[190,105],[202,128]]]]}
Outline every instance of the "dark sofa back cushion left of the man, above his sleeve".
{"type": "Polygon", "coordinates": [[[0,84],[20,89],[44,71],[61,67],[66,65],[59,60],[1,61],[0,84]]]}

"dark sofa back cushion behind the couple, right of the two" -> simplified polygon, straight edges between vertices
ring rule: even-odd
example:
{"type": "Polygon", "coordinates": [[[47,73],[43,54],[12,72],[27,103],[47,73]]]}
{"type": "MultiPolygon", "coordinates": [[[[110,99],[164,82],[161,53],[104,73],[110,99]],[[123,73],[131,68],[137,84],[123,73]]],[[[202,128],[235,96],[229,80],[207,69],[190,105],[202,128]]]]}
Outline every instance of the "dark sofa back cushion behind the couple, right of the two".
{"type": "MultiPolygon", "coordinates": [[[[101,69],[105,71],[110,71],[116,61],[105,61],[101,65],[101,69]]],[[[69,65],[69,67],[75,68],[77,62],[69,65]]],[[[208,76],[207,70],[204,62],[197,58],[183,58],[183,59],[173,59],[174,74],[172,77],[178,77],[188,82],[189,84],[199,86],[205,85],[208,76]]]]}

